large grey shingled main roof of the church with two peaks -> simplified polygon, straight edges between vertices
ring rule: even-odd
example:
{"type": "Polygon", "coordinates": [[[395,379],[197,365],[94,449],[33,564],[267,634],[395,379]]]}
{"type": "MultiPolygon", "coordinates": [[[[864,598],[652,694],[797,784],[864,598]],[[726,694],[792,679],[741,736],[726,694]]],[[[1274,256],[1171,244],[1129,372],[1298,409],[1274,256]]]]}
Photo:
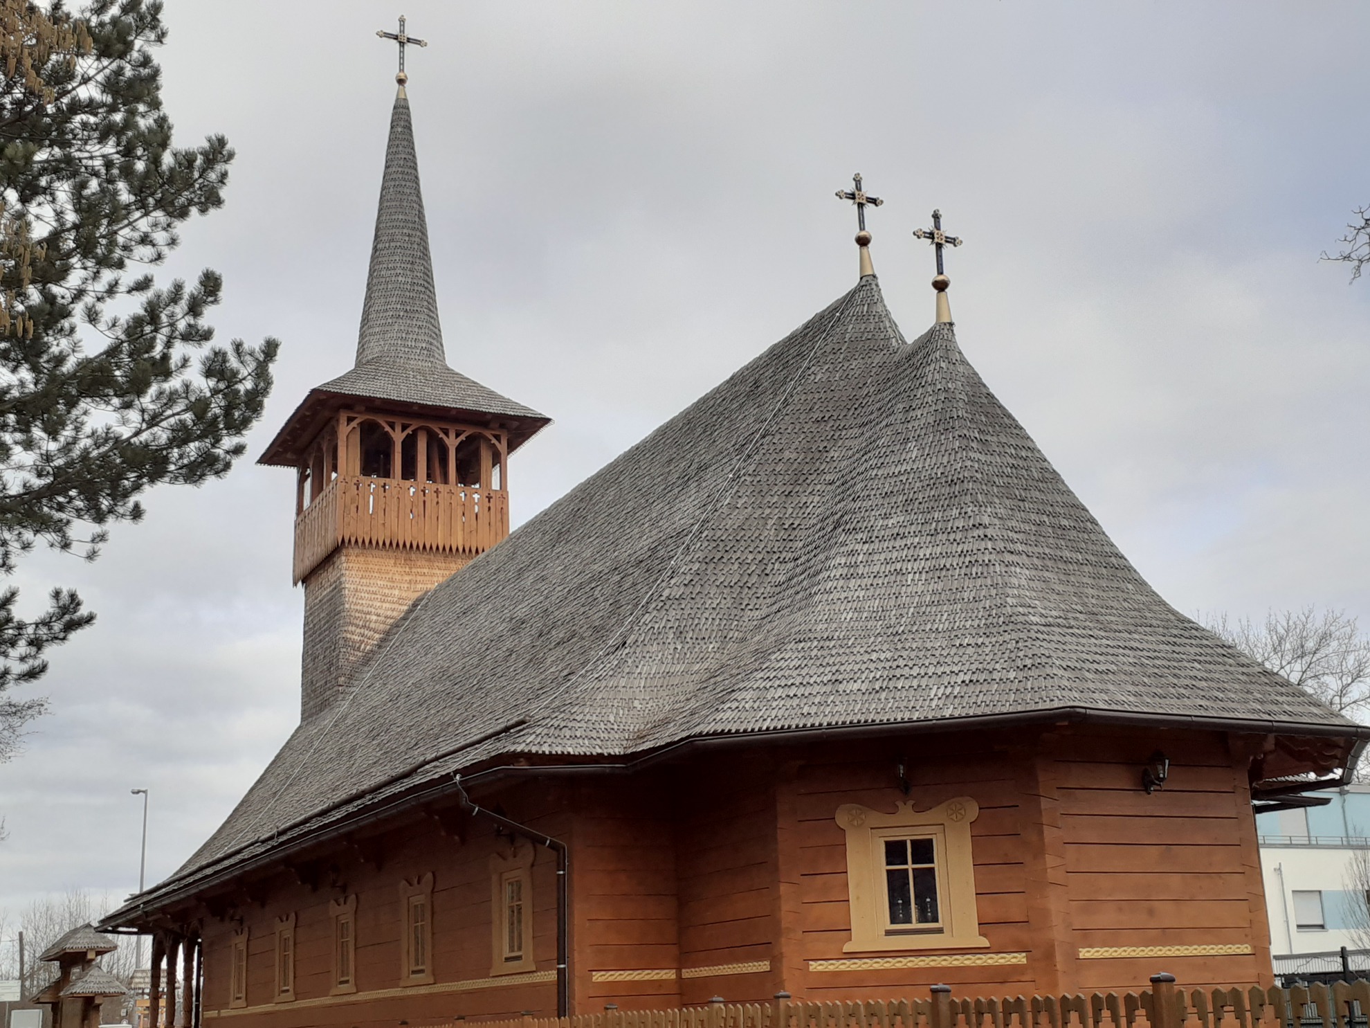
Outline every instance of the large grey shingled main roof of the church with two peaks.
{"type": "Polygon", "coordinates": [[[1360,733],[1162,600],[870,276],[419,599],[159,892],[510,754],[1064,711],[1360,733]]]}

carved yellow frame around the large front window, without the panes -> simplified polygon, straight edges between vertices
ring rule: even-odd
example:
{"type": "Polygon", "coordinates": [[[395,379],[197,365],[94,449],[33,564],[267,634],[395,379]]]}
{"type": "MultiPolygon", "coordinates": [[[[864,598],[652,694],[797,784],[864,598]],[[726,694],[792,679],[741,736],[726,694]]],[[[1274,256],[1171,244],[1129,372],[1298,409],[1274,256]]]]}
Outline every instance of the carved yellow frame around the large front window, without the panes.
{"type": "Polygon", "coordinates": [[[975,868],[970,825],[980,805],[970,796],[948,799],[932,810],[914,810],[912,800],[884,813],[844,803],[837,825],[847,833],[847,892],[852,938],[843,953],[988,949],[975,910],[975,868]],[[937,869],[940,925],[926,931],[889,927],[885,896],[885,839],[932,839],[937,869]]]}

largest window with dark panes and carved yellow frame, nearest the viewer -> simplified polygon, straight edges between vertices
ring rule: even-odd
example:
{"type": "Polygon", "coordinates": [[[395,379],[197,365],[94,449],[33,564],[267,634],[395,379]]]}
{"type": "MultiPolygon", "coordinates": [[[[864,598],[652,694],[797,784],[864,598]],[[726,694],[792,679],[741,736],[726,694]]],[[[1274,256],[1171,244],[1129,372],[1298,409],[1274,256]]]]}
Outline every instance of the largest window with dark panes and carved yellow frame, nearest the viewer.
{"type": "Polygon", "coordinates": [[[932,810],[899,803],[895,813],[847,803],[847,892],[852,938],[844,953],[988,947],[975,910],[969,796],[932,810]]]}

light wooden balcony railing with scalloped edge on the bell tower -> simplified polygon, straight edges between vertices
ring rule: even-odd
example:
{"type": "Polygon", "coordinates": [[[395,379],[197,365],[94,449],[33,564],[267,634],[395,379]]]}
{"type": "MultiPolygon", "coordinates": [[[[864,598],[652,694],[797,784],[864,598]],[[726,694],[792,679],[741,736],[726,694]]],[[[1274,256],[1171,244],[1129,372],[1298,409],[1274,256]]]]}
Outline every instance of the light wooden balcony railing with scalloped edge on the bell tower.
{"type": "Polygon", "coordinates": [[[344,543],[474,555],[508,533],[501,489],[341,476],[295,519],[295,581],[344,543]]]}

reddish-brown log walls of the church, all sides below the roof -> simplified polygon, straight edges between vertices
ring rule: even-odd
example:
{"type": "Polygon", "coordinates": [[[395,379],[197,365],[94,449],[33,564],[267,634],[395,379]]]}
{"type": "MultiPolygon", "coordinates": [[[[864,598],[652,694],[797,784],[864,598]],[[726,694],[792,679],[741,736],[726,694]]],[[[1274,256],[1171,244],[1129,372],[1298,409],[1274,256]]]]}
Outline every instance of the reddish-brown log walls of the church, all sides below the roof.
{"type": "MultiPolygon", "coordinates": [[[[719,748],[637,774],[548,777],[499,802],[510,817],[570,844],[575,1013],[685,1009],[715,995],[769,1003],[780,991],[829,1010],[822,1005],[912,995],[936,983],[956,996],[1126,995],[1158,964],[1182,972],[1191,990],[1269,988],[1241,746],[1197,732],[1058,728],[1041,737],[719,748]],[[1170,777],[1147,795],[1141,769],[1158,747],[1171,761],[1170,777]],[[848,803],[892,811],[906,790],[918,810],[959,796],[978,805],[971,858],[986,949],[845,951],[845,833],[834,814],[848,803]]],[[[227,1024],[363,1028],[522,1010],[548,1016],[551,854],[541,851],[534,865],[537,973],[490,984],[489,858],[508,843],[480,822],[464,840],[437,825],[396,824],[375,842],[330,855],[337,888],[277,883],[260,907],[241,907],[251,924],[253,1020],[227,1024]],[[434,874],[436,983],[406,990],[399,883],[426,872],[434,874]],[[345,998],[310,1006],[329,994],[327,903],[348,894],[358,895],[356,988],[370,998],[364,1006],[345,998]],[[292,911],[299,999],[273,1010],[270,925],[292,911]]],[[[207,1012],[233,1018],[240,1014],[225,1009],[229,933],[227,924],[206,928],[204,996],[207,1012]]],[[[984,1016],[984,1028],[1004,1028],[995,1020],[1007,1016],[1001,1006],[984,1016]]]]}

